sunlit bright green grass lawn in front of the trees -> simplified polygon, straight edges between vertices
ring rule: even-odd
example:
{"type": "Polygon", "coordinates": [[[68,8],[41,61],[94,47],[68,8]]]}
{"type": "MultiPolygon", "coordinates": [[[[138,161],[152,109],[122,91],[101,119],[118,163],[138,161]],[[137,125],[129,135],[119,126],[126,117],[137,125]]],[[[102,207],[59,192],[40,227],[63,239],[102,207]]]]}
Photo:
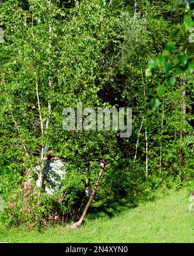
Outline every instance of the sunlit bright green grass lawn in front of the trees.
{"type": "Polygon", "coordinates": [[[186,189],[157,192],[155,200],[116,215],[107,215],[107,207],[107,213],[87,218],[79,229],[0,230],[0,242],[194,242],[194,214],[188,211],[187,196],[186,189]]]}

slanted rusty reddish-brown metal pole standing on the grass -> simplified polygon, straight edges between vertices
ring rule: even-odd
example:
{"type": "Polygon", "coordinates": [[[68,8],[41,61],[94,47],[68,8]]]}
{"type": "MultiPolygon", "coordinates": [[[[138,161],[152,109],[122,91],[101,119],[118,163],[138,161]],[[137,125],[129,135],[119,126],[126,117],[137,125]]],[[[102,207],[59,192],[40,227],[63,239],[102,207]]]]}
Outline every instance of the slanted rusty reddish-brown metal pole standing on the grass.
{"type": "Polygon", "coordinates": [[[94,198],[94,194],[96,194],[96,190],[98,189],[98,186],[100,184],[100,181],[102,179],[102,174],[103,174],[103,170],[105,169],[106,167],[106,164],[104,161],[102,161],[100,163],[100,173],[98,175],[98,180],[96,181],[96,184],[95,184],[95,187],[94,187],[94,190],[92,191],[92,194],[91,194],[91,197],[89,199],[89,202],[87,203],[86,207],[85,207],[85,210],[83,211],[82,215],[81,215],[81,218],[78,222],[74,223],[71,228],[72,229],[75,229],[76,227],[80,227],[81,223],[83,222],[83,218],[85,217],[86,213],[87,213],[87,210],[89,209],[90,205],[91,205],[91,202],[92,202],[92,199],[94,198]]]}

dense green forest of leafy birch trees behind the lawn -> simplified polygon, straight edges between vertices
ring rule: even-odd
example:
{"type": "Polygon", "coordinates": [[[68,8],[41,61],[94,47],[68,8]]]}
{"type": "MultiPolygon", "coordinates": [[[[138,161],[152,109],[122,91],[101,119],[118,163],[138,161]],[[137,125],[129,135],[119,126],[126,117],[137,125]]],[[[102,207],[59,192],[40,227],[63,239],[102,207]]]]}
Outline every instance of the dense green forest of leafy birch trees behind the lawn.
{"type": "Polygon", "coordinates": [[[193,8],[0,1],[0,226],[76,222],[90,196],[194,189],[193,8]],[[64,109],[78,115],[78,104],[85,116],[131,108],[131,134],[95,129],[91,119],[65,130],[64,109]]]}

